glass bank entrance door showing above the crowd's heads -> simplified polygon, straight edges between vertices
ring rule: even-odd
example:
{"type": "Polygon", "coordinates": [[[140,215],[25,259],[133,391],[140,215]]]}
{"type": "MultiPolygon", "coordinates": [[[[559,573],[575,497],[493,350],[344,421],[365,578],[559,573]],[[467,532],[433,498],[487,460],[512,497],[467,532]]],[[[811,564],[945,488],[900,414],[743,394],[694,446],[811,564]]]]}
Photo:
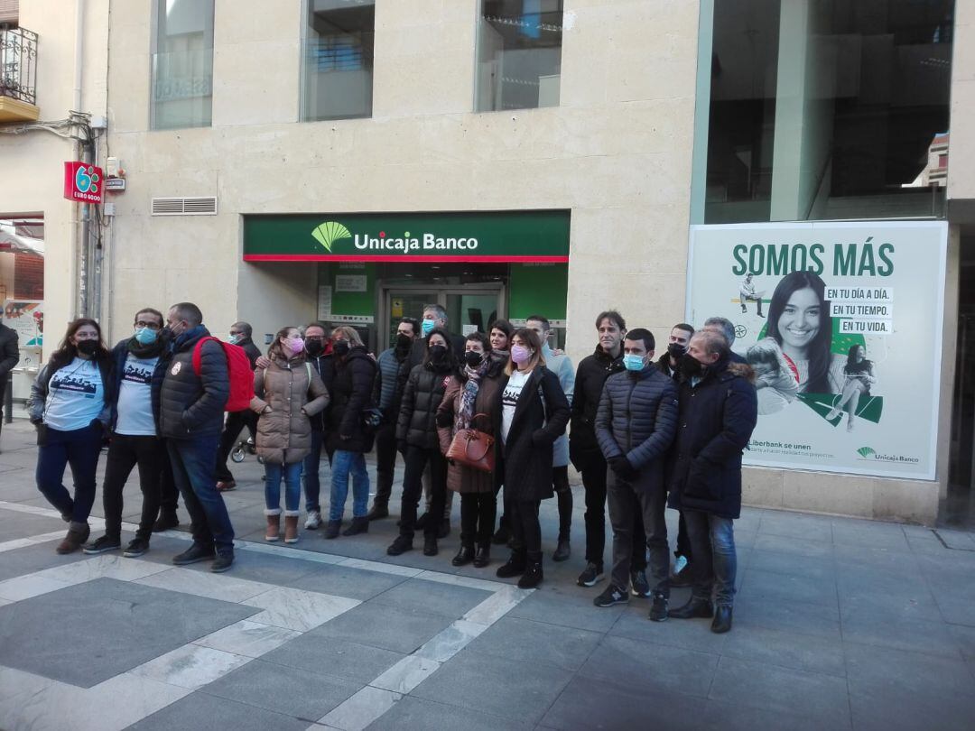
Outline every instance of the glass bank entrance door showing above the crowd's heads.
{"type": "Polygon", "coordinates": [[[486,332],[497,318],[503,318],[505,296],[503,283],[477,285],[448,285],[430,287],[428,285],[389,286],[382,289],[382,320],[379,325],[379,350],[388,346],[400,318],[411,317],[419,320],[423,315],[423,305],[439,304],[447,310],[448,326],[451,332],[463,335],[480,330],[486,332]],[[385,335],[383,337],[383,334],[385,335]]]}

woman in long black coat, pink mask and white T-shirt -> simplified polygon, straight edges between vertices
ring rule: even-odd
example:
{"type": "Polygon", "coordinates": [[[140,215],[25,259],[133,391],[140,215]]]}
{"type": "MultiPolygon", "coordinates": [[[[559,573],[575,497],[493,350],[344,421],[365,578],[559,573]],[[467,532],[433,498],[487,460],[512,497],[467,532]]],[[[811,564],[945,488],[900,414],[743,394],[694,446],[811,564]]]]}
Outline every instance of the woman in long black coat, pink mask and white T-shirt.
{"type": "Polygon", "coordinates": [[[569,408],[559,377],[545,367],[534,330],[522,327],[511,338],[511,355],[494,409],[495,480],[504,484],[513,534],[511,558],[498,568],[500,578],[521,575],[518,586],[542,581],[542,533],[538,506],[553,496],[552,445],[565,434],[569,408]]]}

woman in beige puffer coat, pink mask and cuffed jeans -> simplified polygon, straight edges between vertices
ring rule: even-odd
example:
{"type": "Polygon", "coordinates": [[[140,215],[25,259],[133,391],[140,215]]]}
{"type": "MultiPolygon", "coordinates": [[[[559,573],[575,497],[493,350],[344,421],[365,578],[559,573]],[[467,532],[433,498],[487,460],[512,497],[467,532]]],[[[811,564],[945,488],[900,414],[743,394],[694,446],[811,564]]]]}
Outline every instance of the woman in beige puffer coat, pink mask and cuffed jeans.
{"type": "Polygon", "coordinates": [[[329,392],[305,360],[297,327],[282,327],[267,351],[271,364],[254,372],[251,410],[257,420],[257,454],[264,462],[265,541],[281,533],[281,481],[285,482],[285,543],[298,539],[301,467],[311,451],[310,417],[329,404],[329,392]]]}

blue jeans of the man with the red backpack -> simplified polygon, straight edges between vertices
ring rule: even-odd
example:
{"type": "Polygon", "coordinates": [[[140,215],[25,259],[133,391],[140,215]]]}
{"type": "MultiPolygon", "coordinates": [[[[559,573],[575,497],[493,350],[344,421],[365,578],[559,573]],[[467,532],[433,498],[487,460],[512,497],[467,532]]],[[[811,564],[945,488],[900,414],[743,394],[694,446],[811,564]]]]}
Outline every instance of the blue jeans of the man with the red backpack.
{"type": "Polygon", "coordinates": [[[173,480],[193,524],[193,541],[217,554],[234,553],[234,527],[223,496],[216,490],[216,449],[219,434],[191,440],[167,440],[173,480]]]}

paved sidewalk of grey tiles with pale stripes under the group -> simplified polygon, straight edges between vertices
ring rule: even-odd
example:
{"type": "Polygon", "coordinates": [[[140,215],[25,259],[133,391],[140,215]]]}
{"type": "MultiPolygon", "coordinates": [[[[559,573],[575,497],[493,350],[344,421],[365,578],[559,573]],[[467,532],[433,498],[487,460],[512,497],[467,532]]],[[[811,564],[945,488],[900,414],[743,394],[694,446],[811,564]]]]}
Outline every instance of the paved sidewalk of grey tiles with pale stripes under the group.
{"type": "MultiPolygon", "coordinates": [[[[34,486],[31,437],[5,425],[0,454],[3,729],[975,725],[970,533],[745,510],[734,629],[713,635],[705,620],[649,622],[643,599],[592,605],[604,583],[574,583],[578,485],[572,558],[546,559],[534,592],[494,577],[502,551],[488,569],[450,565],[459,504],[435,558],[387,557],[395,518],[365,536],[267,545],[253,457],[231,466],[230,572],[174,567],[180,531],[143,558],[59,557],[64,523],[34,486]]],[[[135,478],[126,497],[132,521],[135,478]]],[[[554,501],[542,519],[550,556],[554,501]]]]}

